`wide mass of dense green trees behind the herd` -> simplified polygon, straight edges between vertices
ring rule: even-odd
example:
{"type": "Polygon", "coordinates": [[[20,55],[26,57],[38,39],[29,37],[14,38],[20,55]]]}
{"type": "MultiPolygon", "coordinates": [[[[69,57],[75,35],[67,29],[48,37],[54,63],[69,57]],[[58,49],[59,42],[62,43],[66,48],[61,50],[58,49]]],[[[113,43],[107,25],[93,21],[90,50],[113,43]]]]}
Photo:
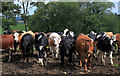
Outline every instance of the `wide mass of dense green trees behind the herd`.
{"type": "Polygon", "coordinates": [[[65,28],[85,34],[90,30],[117,32],[117,16],[110,11],[114,7],[111,2],[33,2],[31,5],[37,6],[28,20],[34,32],[58,32],[65,28]]]}

